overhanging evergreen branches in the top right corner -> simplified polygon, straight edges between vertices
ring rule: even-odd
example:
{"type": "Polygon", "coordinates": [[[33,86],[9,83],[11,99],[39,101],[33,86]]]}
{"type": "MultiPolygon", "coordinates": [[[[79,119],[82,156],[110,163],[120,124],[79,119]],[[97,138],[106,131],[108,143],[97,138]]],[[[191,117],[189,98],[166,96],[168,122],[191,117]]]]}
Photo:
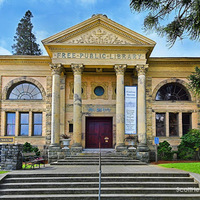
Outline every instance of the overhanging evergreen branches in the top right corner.
{"type": "Polygon", "coordinates": [[[200,0],[131,0],[130,8],[136,12],[149,11],[144,29],[166,36],[170,47],[177,38],[200,39],[200,0]],[[165,25],[161,25],[162,21],[165,25]]]}

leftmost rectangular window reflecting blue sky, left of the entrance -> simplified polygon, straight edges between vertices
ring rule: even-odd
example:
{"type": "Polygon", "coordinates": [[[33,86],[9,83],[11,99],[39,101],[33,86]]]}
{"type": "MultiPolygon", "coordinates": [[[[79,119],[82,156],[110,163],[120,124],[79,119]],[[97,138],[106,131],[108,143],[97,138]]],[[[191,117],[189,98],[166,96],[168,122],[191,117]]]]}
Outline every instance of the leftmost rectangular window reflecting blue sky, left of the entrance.
{"type": "Polygon", "coordinates": [[[6,135],[15,135],[15,113],[6,113],[6,135]]]}

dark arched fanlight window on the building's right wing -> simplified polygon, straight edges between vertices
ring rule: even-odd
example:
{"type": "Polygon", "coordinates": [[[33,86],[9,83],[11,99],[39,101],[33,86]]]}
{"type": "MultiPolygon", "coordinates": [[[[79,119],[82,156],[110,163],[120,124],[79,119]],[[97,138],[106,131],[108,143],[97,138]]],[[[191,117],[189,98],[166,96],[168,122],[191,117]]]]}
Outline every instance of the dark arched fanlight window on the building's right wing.
{"type": "Polygon", "coordinates": [[[189,101],[190,95],[179,83],[163,85],[156,94],[156,101],[189,101]]]}

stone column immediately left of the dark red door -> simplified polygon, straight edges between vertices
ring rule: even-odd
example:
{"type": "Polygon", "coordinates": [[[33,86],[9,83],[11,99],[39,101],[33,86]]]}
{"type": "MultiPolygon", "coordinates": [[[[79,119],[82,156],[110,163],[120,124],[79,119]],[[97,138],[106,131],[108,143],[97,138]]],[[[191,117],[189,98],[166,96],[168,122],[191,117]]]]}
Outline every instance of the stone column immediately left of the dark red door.
{"type": "Polygon", "coordinates": [[[72,150],[82,151],[82,87],[83,64],[72,64],[74,73],[73,145],[72,150]]]}

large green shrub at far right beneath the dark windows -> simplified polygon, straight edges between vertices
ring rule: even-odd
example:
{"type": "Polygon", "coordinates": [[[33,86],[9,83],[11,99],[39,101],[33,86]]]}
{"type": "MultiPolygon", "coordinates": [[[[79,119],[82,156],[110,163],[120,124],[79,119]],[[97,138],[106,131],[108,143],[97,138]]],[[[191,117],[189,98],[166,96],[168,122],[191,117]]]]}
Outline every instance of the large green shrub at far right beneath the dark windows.
{"type": "Polygon", "coordinates": [[[191,129],[187,134],[181,137],[181,143],[178,146],[178,158],[182,160],[200,159],[200,130],[191,129]]]}

